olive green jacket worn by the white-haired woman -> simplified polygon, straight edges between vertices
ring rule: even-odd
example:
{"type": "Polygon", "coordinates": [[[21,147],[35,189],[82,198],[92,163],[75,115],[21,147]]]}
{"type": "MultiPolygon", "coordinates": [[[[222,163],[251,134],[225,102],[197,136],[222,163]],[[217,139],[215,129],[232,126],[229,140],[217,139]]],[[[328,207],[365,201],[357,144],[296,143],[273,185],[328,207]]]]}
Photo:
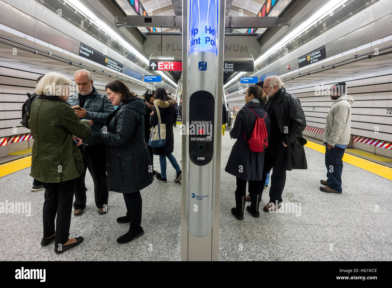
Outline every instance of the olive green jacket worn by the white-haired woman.
{"type": "Polygon", "coordinates": [[[29,126],[34,138],[30,176],[45,183],[78,178],[84,164],[72,135],[83,140],[89,138],[89,122],[81,121],[71,105],[58,96],[38,96],[31,103],[30,113],[29,126]]]}

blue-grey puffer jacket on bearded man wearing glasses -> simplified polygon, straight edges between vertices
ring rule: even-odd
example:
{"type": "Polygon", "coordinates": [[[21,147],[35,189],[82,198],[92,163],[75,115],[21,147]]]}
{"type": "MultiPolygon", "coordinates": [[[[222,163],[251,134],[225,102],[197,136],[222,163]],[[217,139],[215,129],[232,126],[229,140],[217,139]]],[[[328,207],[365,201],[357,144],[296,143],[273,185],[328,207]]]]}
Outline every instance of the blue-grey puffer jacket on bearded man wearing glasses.
{"type": "MultiPolygon", "coordinates": [[[[78,92],[69,96],[67,103],[71,106],[80,105],[78,92]]],[[[98,133],[106,124],[107,117],[114,111],[113,104],[107,99],[107,95],[99,93],[93,86],[93,94],[87,97],[84,107],[87,110],[85,119],[93,120],[94,124],[91,125],[91,137],[83,140],[83,144],[94,145],[102,143],[98,138],[98,133]]]]}

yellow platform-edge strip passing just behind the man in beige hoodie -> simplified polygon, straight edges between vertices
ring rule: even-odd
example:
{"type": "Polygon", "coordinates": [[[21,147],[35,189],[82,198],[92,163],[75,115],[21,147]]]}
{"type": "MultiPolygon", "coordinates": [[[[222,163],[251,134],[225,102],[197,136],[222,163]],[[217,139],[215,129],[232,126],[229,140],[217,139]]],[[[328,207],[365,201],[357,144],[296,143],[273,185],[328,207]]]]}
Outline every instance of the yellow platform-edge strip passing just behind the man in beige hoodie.
{"type": "MultiPolygon", "coordinates": [[[[307,142],[307,144],[305,145],[306,147],[316,150],[318,152],[321,152],[323,154],[325,154],[325,146],[321,145],[321,144],[317,144],[315,142],[309,141],[307,142]]],[[[378,163],[374,163],[372,161],[363,159],[363,158],[359,158],[357,156],[348,154],[348,153],[344,153],[343,155],[343,162],[346,162],[348,164],[354,165],[358,168],[364,169],[366,171],[369,171],[371,173],[374,173],[376,175],[379,175],[381,177],[387,178],[388,180],[392,180],[392,168],[378,164],[378,163]]]]}

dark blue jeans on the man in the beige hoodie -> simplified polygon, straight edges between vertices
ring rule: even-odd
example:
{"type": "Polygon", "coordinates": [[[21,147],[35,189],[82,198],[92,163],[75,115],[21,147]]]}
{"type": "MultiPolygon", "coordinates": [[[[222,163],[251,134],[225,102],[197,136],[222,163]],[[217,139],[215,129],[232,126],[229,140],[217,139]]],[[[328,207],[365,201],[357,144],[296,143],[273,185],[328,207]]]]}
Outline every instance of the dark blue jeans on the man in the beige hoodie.
{"type": "Polygon", "coordinates": [[[327,167],[327,182],[332,189],[342,192],[342,171],[344,148],[335,146],[330,150],[325,145],[325,167],[327,167]]]}

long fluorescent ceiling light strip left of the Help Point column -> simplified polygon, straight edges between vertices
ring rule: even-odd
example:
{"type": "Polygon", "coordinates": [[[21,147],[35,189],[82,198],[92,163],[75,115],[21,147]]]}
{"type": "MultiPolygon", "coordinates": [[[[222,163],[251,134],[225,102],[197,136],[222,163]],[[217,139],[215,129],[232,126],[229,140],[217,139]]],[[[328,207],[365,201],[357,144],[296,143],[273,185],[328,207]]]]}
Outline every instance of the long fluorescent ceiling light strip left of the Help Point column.
{"type": "MultiPolygon", "coordinates": [[[[102,20],[100,20],[92,11],[87,9],[80,1],[78,0],[65,0],[69,5],[71,5],[78,13],[87,16],[90,18],[91,21],[95,23],[102,31],[104,31],[106,34],[114,38],[114,40],[118,41],[121,45],[123,45],[126,49],[129,50],[132,54],[134,54],[136,57],[141,59],[144,63],[147,65],[150,64],[149,60],[145,58],[142,54],[140,54],[134,47],[129,45],[127,41],[125,41],[120,35],[118,35],[113,29],[111,29],[109,26],[107,26],[102,20]]],[[[174,86],[177,86],[176,83],[174,83],[165,73],[160,72],[160,74],[170,81],[174,86]]]]}

